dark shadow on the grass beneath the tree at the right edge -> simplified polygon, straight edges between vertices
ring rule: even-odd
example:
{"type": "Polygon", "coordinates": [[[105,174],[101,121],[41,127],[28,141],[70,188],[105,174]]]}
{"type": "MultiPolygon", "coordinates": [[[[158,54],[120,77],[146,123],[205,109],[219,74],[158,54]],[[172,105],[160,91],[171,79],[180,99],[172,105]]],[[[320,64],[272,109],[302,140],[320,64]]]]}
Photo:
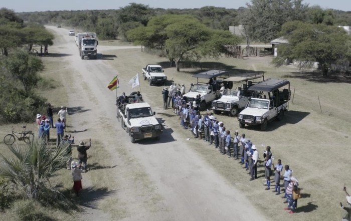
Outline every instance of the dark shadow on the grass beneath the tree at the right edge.
{"type": "Polygon", "coordinates": [[[348,83],[351,84],[351,76],[338,73],[328,73],[327,77],[321,75],[320,71],[297,71],[290,72],[283,78],[298,78],[316,83],[348,83]]]}

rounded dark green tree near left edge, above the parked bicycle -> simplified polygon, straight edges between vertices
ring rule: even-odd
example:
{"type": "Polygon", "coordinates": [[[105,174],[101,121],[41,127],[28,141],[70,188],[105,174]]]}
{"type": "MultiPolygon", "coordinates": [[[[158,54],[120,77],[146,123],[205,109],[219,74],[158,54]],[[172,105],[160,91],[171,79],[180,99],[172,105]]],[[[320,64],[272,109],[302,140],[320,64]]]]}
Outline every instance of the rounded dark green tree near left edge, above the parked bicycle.
{"type": "Polygon", "coordinates": [[[4,61],[6,70],[22,84],[26,93],[29,93],[40,80],[39,71],[44,69],[40,58],[18,51],[4,61]]]}

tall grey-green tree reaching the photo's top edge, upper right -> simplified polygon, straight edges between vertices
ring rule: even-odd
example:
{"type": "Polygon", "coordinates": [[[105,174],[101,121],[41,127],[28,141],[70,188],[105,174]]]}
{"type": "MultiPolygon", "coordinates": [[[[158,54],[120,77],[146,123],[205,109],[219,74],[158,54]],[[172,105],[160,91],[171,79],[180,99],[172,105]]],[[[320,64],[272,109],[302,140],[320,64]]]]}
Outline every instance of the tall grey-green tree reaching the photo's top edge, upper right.
{"type": "Polygon", "coordinates": [[[241,23],[250,39],[268,43],[278,37],[284,23],[305,21],[307,4],[302,0],[251,0],[241,13],[241,23]]]}

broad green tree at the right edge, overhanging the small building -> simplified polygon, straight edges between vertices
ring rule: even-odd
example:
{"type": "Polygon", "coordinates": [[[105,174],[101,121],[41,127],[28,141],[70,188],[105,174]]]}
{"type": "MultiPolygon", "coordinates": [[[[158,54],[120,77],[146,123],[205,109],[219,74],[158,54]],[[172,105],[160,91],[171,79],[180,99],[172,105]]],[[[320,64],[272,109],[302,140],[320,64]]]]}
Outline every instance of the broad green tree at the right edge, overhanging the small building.
{"type": "Polygon", "coordinates": [[[345,44],[350,38],[342,28],[294,21],[285,23],[280,35],[289,43],[278,47],[279,56],[273,60],[278,67],[286,60],[297,61],[300,68],[318,62],[322,75],[327,76],[332,64],[347,63],[350,58],[350,44],[345,44]]]}

